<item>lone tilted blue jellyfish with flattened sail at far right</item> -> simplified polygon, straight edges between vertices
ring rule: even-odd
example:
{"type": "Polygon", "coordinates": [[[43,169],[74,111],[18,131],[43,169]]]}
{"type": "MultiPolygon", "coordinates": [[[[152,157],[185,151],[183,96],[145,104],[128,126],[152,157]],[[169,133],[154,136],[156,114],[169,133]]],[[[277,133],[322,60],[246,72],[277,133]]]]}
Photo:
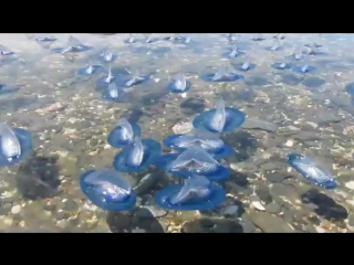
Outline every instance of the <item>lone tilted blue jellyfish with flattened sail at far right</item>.
{"type": "Polygon", "coordinates": [[[334,189],[337,187],[331,173],[320,169],[311,158],[301,153],[292,152],[288,155],[288,162],[305,179],[324,189],[334,189]]]}

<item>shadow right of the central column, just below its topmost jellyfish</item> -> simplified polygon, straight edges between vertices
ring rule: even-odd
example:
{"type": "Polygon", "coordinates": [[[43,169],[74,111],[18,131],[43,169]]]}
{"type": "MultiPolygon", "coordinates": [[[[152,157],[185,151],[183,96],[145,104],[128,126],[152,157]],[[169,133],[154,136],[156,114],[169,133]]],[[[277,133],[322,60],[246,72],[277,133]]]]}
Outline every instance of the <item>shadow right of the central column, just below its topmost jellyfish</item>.
{"type": "Polygon", "coordinates": [[[233,148],[235,158],[232,160],[237,162],[249,159],[257,151],[257,139],[247,131],[237,130],[225,134],[221,139],[233,148]]]}

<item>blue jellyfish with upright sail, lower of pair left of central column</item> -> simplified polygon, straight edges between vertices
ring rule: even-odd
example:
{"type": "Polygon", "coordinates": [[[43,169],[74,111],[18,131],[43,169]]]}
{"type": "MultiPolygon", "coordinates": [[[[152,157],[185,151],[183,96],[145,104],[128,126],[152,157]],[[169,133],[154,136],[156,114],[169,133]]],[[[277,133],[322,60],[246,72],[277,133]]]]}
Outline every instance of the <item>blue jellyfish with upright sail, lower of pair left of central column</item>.
{"type": "Polygon", "coordinates": [[[136,136],[115,156],[113,167],[118,172],[140,172],[155,163],[162,152],[159,142],[136,136]]]}

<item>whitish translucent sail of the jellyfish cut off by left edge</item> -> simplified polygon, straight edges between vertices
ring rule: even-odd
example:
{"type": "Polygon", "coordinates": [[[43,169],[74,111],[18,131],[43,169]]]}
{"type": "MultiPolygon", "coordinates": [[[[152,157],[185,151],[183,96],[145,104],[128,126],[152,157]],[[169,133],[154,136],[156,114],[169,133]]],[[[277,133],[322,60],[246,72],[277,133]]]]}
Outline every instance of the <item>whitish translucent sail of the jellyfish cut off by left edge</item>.
{"type": "Polygon", "coordinates": [[[21,156],[21,145],[14,131],[4,123],[0,124],[1,151],[9,162],[21,156]]]}

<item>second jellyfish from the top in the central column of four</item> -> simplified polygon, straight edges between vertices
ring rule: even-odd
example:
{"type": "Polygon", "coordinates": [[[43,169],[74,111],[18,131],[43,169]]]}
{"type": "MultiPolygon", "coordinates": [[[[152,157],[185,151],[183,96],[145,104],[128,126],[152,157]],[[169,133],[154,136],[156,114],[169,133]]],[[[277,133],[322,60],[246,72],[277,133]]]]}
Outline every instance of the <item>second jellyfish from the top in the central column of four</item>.
{"type": "Polygon", "coordinates": [[[194,129],[186,135],[170,135],[164,139],[164,145],[176,151],[198,145],[214,158],[223,158],[233,153],[230,146],[226,145],[218,134],[205,129],[194,129]]]}

